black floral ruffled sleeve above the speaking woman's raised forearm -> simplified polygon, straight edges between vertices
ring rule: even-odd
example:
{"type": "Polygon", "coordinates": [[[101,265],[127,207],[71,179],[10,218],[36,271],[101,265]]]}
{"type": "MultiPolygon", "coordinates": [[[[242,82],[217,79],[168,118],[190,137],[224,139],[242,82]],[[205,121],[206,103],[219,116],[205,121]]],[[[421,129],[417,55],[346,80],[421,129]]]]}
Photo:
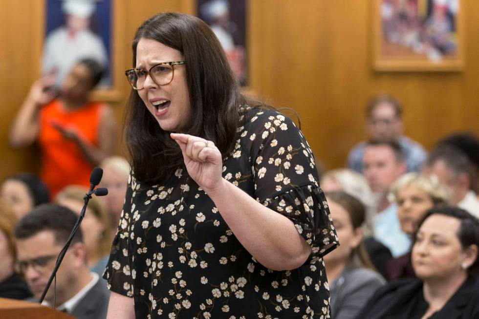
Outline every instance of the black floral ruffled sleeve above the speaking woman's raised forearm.
{"type": "Polygon", "coordinates": [[[326,255],[339,242],[303,133],[273,110],[262,109],[250,121],[245,130],[254,132],[250,140],[256,199],[294,223],[311,245],[311,257],[326,255]]]}

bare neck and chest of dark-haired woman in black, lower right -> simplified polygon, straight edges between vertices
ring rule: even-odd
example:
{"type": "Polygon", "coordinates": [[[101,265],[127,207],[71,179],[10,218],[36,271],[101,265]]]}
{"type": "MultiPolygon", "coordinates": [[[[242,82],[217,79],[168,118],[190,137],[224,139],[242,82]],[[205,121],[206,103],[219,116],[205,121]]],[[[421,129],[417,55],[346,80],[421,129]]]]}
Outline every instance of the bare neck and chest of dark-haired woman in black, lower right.
{"type": "MultiPolygon", "coordinates": [[[[446,302],[456,293],[457,289],[466,281],[465,272],[456,276],[446,276],[424,280],[424,299],[429,304],[427,314],[432,315],[444,307],[446,302]]],[[[427,317],[428,318],[428,317],[427,317]]]]}

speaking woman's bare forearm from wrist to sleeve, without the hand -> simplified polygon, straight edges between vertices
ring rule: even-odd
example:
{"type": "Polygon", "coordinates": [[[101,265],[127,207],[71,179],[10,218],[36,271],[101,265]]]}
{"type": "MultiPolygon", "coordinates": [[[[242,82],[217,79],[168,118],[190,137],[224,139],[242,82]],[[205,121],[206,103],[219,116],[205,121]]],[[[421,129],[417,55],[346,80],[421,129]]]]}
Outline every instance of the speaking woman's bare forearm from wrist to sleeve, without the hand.
{"type": "Polygon", "coordinates": [[[311,247],[293,222],[257,202],[224,178],[205,190],[241,245],[264,267],[292,270],[303,265],[311,247]]]}

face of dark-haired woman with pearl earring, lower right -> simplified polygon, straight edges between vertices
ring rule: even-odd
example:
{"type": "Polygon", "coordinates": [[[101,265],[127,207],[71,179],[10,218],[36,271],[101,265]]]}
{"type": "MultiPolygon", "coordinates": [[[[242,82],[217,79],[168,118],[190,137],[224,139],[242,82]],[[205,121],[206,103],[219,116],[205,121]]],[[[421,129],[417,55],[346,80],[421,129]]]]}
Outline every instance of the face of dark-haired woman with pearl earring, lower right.
{"type": "Polygon", "coordinates": [[[412,251],[413,268],[418,278],[451,278],[464,272],[463,262],[468,262],[468,266],[472,264],[470,255],[462,249],[457,238],[459,226],[457,218],[442,214],[433,214],[422,223],[412,251]]]}

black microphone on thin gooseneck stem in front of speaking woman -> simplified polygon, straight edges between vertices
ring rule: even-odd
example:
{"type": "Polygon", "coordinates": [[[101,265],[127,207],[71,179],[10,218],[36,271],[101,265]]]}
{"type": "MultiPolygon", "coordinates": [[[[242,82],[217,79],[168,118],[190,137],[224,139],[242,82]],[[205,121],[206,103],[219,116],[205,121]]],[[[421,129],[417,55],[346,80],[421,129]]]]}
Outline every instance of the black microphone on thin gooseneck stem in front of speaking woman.
{"type": "MultiPolygon", "coordinates": [[[[65,257],[66,251],[68,250],[68,247],[70,246],[71,241],[73,240],[73,237],[75,236],[76,232],[78,231],[78,228],[80,227],[80,224],[82,223],[83,217],[85,217],[85,212],[87,210],[87,205],[88,201],[91,198],[92,194],[95,194],[96,196],[105,196],[108,194],[108,189],[104,187],[97,188],[94,190],[95,186],[100,184],[100,181],[102,180],[103,176],[103,170],[99,167],[95,167],[90,174],[90,190],[85,194],[83,197],[83,200],[85,204],[83,205],[82,211],[80,212],[80,216],[78,216],[77,222],[75,226],[73,226],[73,229],[70,233],[70,236],[66,240],[65,246],[61,250],[60,254],[58,255],[57,262],[55,264],[55,268],[53,269],[50,278],[48,279],[48,282],[45,286],[45,289],[42,293],[42,297],[40,297],[39,303],[41,304],[45,298],[46,293],[48,292],[48,288],[50,288],[50,285],[53,281],[53,279],[56,279],[56,274],[58,271],[58,268],[60,267],[60,264],[62,263],[63,257],[65,257]]],[[[56,280],[55,280],[56,283],[56,280]]],[[[56,285],[55,285],[56,288],[56,285]]],[[[53,293],[53,308],[55,308],[55,293],[53,293]]]]}

